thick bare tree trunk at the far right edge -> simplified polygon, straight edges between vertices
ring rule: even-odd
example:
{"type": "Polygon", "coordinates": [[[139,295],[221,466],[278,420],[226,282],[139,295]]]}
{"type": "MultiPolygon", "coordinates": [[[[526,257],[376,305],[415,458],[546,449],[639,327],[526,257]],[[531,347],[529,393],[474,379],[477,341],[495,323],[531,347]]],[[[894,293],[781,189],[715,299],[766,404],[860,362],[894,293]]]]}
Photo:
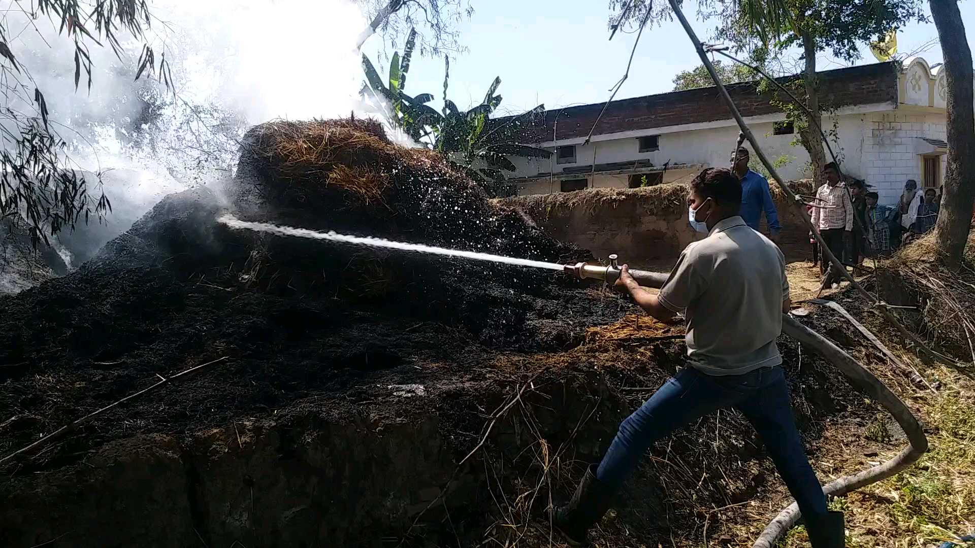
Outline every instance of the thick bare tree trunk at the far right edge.
{"type": "Polygon", "coordinates": [[[948,161],[941,211],[935,225],[938,253],[956,264],[961,260],[975,201],[975,115],[972,106],[972,53],[965,38],[956,0],[930,0],[945,59],[948,94],[948,161]]]}

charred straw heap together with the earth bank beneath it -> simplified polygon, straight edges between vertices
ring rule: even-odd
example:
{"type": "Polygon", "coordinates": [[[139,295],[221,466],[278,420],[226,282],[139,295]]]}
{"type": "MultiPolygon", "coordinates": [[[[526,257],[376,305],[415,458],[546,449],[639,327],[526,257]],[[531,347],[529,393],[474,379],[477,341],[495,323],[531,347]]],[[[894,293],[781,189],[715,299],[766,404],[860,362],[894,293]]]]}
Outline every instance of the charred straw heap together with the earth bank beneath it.
{"type": "MultiPolygon", "coordinates": [[[[227,212],[590,257],[369,121],[258,126],[220,192],[169,196],[77,271],[0,297],[3,455],[228,357],[4,466],[11,544],[551,545],[531,516],[682,362],[680,330],[558,274],[234,231],[227,212]]],[[[862,398],[780,347],[814,440],[862,398]]],[[[734,413],[652,455],[606,528],[634,545],[696,542],[714,509],[784,492],[734,413]]]]}

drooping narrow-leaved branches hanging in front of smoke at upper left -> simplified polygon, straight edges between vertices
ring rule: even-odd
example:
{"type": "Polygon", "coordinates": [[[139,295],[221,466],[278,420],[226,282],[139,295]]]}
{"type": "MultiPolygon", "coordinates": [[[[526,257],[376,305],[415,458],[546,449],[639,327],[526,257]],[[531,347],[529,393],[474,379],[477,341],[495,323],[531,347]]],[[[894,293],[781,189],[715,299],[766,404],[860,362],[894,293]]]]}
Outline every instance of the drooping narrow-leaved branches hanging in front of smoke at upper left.
{"type": "Polygon", "coordinates": [[[145,0],[41,0],[11,3],[0,20],[0,93],[9,108],[0,111],[3,132],[0,150],[0,217],[23,216],[35,245],[48,234],[86,222],[93,213],[101,217],[111,204],[101,189],[100,175],[88,180],[76,170],[68,152],[68,142],[48,119],[48,99],[31,75],[31,56],[17,51],[16,41],[22,25],[17,13],[32,26],[30,32],[63,35],[74,44],[74,85],[79,88],[85,76],[88,91],[93,82],[92,47],[111,47],[123,59],[122,42],[142,42],[137,60],[136,79],[157,75],[167,89],[173,79],[165,52],[156,59],[148,42],[152,20],[145,0]],[[50,26],[48,24],[50,23],[50,26]],[[28,60],[24,60],[28,59],[28,60]],[[26,108],[16,108],[22,103],[26,108]],[[94,185],[92,184],[94,183],[94,185]],[[91,190],[98,190],[93,193],[91,190]]]}

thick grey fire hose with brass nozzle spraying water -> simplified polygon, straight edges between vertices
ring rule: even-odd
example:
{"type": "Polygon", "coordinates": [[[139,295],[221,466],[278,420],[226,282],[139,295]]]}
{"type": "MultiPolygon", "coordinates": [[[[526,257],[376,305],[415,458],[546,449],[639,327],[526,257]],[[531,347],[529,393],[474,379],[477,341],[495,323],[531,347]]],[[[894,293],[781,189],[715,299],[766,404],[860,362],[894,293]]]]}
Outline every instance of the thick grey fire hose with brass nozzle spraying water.
{"type": "MultiPolygon", "coordinates": [[[[620,272],[617,258],[615,254],[609,255],[609,264],[606,266],[582,262],[566,264],[565,272],[579,279],[603,280],[607,284],[614,284],[619,279],[620,272]]],[[[647,288],[660,289],[667,281],[667,275],[658,272],[630,270],[630,275],[638,284],[647,288]]],[[[842,476],[823,486],[824,493],[828,496],[841,496],[849,491],[875,484],[914,464],[920,455],[927,451],[927,437],[924,436],[924,430],[917,417],[874,373],[867,371],[830,339],[800,324],[791,314],[782,315],[782,333],[815,350],[823,359],[842,372],[853,387],[877,401],[883,409],[890,412],[908,438],[909,445],[890,460],[855,474],[842,476]]],[[[753,548],[772,548],[799,519],[799,506],[793,502],[765,527],[752,545],[753,548]]]]}

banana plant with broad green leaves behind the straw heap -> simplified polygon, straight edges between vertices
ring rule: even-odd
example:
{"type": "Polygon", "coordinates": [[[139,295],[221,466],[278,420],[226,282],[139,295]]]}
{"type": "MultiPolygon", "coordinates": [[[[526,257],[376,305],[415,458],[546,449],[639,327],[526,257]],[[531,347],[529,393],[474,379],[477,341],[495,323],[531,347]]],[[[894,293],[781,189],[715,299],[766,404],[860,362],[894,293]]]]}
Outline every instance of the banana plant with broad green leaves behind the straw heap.
{"type": "Polygon", "coordinates": [[[412,55],[411,43],[411,40],[407,41],[408,48],[402,58],[399,54],[393,55],[385,83],[370,59],[363,56],[367,80],[364,93],[380,104],[391,105],[391,108],[384,109],[391,126],[403,130],[421,145],[443,152],[454,167],[481,183],[489,194],[498,196],[511,193],[512,187],[504,177],[504,172],[516,170],[510,156],[549,158],[552,155],[549,150],[513,141],[521,122],[542,112],[544,106],[539,105],[520,116],[494,122],[490,115],[501,104],[501,96],[495,95],[501,86],[501,78],[495,77],[481,103],[462,111],[447,98],[450,64],[445,58],[444,108],[437,112],[425,104],[433,100],[431,94],[411,98],[404,93],[412,55]]]}

